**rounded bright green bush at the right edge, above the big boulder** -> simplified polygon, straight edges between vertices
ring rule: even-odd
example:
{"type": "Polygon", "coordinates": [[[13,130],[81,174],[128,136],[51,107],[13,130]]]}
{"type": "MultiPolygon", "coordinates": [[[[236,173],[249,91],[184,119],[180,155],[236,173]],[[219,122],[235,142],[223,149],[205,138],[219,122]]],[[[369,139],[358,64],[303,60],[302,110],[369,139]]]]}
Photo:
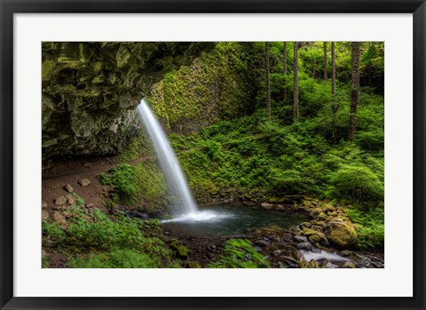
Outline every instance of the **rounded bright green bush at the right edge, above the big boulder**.
{"type": "Polygon", "coordinates": [[[382,181],[365,166],[343,165],[332,174],[329,195],[351,201],[376,202],[384,199],[382,181]]]}

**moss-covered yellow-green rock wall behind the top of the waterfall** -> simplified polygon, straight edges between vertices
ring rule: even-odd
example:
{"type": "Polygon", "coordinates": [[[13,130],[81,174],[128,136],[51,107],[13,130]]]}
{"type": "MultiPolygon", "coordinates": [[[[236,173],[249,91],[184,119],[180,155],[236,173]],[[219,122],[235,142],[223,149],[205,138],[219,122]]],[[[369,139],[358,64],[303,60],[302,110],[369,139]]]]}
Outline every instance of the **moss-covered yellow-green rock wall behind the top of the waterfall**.
{"type": "Polygon", "coordinates": [[[171,131],[190,133],[251,111],[256,91],[246,53],[244,44],[221,42],[191,66],[165,75],[148,94],[155,114],[171,131]]]}

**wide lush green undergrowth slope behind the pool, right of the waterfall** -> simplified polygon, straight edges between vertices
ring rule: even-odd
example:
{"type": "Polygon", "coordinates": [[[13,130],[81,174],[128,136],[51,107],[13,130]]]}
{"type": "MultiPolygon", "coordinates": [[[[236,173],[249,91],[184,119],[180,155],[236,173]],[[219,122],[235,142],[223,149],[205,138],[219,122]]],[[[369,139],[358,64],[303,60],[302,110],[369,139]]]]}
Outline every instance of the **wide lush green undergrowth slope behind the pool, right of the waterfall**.
{"type": "Polygon", "coordinates": [[[171,134],[170,140],[201,200],[236,188],[246,195],[312,195],[383,206],[383,152],[344,140],[334,145],[316,133],[317,122],[285,126],[279,119],[268,122],[259,110],[189,136],[171,134]]]}

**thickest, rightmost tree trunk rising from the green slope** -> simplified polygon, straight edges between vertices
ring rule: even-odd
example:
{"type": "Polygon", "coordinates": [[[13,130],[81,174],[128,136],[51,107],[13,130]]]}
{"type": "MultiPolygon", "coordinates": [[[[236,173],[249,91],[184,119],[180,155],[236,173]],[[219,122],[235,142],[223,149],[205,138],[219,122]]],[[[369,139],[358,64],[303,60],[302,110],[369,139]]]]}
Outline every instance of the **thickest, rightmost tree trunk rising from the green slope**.
{"type": "Polygon", "coordinates": [[[357,109],[359,105],[359,42],[352,42],[352,85],[351,85],[351,115],[349,118],[350,141],[355,138],[357,129],[357,109]]]}

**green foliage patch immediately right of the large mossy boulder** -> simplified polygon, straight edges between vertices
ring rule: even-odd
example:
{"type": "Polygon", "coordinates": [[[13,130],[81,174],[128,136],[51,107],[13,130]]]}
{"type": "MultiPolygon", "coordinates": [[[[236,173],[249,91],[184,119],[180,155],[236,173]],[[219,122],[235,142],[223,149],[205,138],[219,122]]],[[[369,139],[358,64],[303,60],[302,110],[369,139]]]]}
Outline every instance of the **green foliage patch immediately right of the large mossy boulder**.
{"type": "Polygon", "coordinates": [[[347,208],[344,212],[357,226],[357,247],[360,250],[384,247],[384,211],[382,208],[347,208]]]}

